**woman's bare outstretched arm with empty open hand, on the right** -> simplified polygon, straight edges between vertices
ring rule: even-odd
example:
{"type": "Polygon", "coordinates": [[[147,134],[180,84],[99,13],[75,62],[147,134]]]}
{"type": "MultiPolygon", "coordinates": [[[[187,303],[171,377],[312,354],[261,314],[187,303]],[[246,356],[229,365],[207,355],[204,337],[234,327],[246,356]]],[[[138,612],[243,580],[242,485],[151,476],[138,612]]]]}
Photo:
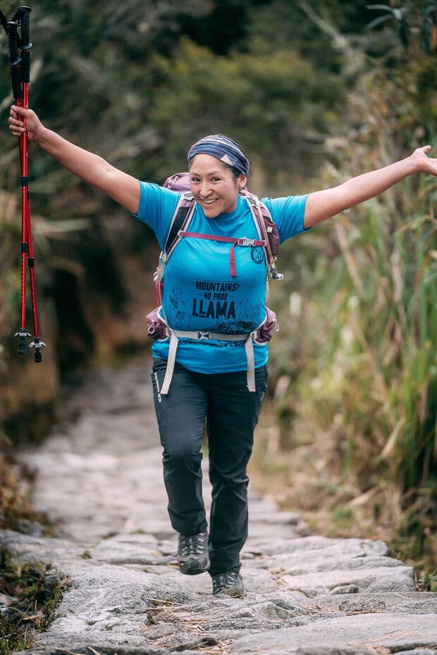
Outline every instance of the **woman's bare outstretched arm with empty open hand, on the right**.
{"type": "Polygon", "coordinates": [[[417,148],[405,159],[369,173],[351,177],[347,182],[309,194],[305,205],[304,227],[312,227],[340,211],[369,200],[413,173],[437,176],[437,159],[427,156],[431,146],[417,148]]]}

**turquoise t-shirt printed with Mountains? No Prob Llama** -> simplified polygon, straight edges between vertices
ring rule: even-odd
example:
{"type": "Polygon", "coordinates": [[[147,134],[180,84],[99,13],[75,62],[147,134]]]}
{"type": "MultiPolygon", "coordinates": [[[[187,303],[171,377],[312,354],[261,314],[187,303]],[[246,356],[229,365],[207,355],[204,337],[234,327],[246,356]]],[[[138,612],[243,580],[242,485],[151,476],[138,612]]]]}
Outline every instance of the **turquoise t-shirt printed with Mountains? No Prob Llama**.
{"type": "MultiPolygon", "coordinates": [[[[149,182],[140,182],[139,218],[154,231],[164,249],[180,194],[149,182]]],[[[264,198],[281,243],[303,231],[307,195],[264,198]]],[[[195,207],[189,232],[258,239],[247,201],[238,196],[235,211],[207,218],[195,207]]],[[[236,275],[230,270],[232,244],[183,237],[166,264],[162,306],[174,330],[247,334],[266,317],[266,262],[261,247],[235,246],[236,275]]],[[[169,339],[155,340],[156,358],[166,359],[169,339]]],[[[255,367],[268,358],[267,344],[254,343],[255,367]]],[[[229,373],[247,369],[244,341],[180,339],[176,362],[199,373],[229,373]]]]}

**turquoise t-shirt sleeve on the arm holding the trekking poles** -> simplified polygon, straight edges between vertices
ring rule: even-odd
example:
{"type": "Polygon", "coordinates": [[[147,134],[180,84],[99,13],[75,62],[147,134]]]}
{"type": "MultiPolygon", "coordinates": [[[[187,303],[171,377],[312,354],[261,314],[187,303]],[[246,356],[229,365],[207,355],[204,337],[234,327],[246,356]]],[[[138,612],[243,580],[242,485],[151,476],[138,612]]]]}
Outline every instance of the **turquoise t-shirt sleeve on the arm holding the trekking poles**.
{"type": "Polygon", "coordinates": [[[140,182],[138,213],[132,213],[154,231],[161,249],[164,249],[171,218],[175,213],[180,194],[164,189],[152,182],[140,182]]]}

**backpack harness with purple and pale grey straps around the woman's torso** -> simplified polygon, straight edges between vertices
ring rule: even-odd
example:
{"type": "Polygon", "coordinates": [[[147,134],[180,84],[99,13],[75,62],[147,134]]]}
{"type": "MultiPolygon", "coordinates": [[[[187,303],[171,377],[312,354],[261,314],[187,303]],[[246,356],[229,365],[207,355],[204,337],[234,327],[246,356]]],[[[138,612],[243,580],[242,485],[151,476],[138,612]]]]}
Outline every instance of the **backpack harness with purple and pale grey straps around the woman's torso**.
{"type": "Polygon", "coordinates": [[[164,272],[166,263],[171,257],[174,249],[177,247],[181,239],[185,237],[196,237],[198,239],[209,239],[214,241],[228,242],[230,247],[230,275],[235,277],[235,247],[248,247],[257,246],[262,247],[266,259],[266,284],[268,288],[268,280],[271,277],[273,280],[283,280],[283,275],[278,273],[276,268],[276,256],[279,250],[279,233],[276,224],[271,218],[269,210],[264,204],[259,201],[258,196],[250,193],[247,189],[240,191],[240,194],[246,199],[250,206],[250,213],[254,220],[255,227],[259,239],[248,239],[247,237],[219,237],[217,235],[204,235],[197,232],[188,232],[190,221],[195,212],[196,202],[190,190],[190,175],[189,173],[176,173],[171,175],[164,182],[163,185],[166,189],[179,192],[181,194],[171,219],[170,229],[164,250],[159,256],[159,266],[154,272],[154,283],[156,291],[156,304],[158,305],[152,312],[147,314],[147,335],[152,339],[159,339],[165,341],[170,338],[170,346],[168,350],[168,360],[166,375],[164,382],[159,390],[160,394],[167,394],[170,386],[171,378],[173,376],[173,369],[176,362],[176,349],[178,347],[178,339],[190,338],[198,340],[206,339],[220,339],[223,341],[245,341],[245,351],[247,356],[247,388],[249,391],[255,391],[254,383],[254,351],[253,342],[264,344],[270,341],[274,330],[278,330],[278,323],[276,321],[276,314],[266,306],[266,318],[261,325],[257,327],[254,332],[249,335],[228,335],[216,334],[215,332],[202,332],[202,331],[183,331],[173,330],[164,316],[162,308],[162,295],[164,289],[164,272]]]}

